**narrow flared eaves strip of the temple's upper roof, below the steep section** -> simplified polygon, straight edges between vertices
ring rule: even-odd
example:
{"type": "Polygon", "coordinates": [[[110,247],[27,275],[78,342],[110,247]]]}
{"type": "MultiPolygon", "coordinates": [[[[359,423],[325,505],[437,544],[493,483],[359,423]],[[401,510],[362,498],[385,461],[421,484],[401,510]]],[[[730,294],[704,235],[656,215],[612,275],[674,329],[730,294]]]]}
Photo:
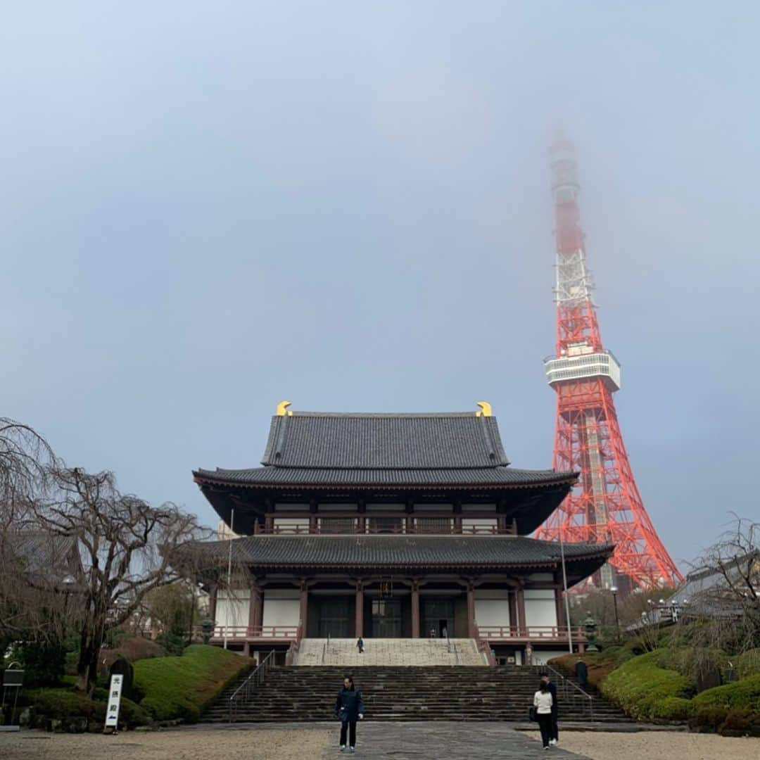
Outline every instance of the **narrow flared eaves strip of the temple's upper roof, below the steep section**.
{"type": "Polygon", "coordinates": [[[464,469],[361,469],[340,467],[253,467],[248,470],[195,470],[201,483],[230,483],[239,486],[472,486],[530,488],[575,483],[576,474],[555,470],[518,470],[515,467],[464,469]]]}

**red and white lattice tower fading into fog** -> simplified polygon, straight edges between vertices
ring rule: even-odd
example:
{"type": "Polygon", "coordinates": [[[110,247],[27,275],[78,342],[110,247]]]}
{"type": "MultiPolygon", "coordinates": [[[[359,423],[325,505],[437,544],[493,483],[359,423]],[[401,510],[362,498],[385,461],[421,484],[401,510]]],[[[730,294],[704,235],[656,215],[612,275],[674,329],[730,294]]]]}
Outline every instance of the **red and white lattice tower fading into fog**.
{"type": "MultiPolygon", "coordinates": [[[[620,575],[641,587],[672,586],[682,575],[644,509],[622,442],[613,393],[620,365],[604,350],[586,266],[575,151],[559,138],[551,149],[556,210],[556,356],[546,376],[557,394],[556,470],[581,472],[578,485],[538,530],[546,540],[612,542],[610,560],[620,575]]],[[[616,583],[609,565],[597,576],[616,583]]]]}

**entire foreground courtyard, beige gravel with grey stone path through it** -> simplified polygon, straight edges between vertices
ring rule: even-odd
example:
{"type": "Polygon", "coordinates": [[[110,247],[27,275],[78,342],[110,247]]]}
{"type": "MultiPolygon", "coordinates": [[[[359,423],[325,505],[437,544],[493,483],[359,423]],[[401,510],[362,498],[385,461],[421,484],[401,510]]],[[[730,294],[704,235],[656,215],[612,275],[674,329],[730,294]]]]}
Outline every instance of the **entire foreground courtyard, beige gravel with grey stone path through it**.
{"type": "MultiPolygon", "coordinates": [[[[328,760],[337,750],[337,723],[188,727],[156,732],[49,734],[0,733],[3,760],[328,760]]],[[[640,732],[561,734],[562,748],[543,752],[534,734],[507,724],[359,724],[357,757],[385,760],[757,760],[760,739],[707,734],[640,732]]]]}

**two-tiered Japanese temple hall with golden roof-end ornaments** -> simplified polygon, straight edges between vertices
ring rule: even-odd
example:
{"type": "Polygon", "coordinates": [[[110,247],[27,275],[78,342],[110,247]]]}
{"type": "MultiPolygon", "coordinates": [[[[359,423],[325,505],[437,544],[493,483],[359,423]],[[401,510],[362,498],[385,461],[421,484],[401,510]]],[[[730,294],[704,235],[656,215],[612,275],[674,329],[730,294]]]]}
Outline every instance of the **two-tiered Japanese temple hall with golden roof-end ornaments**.
{"type": "Polygon", "coordinates": [[[231,538],[204,545],[211,642],[258,654],[305,638],[471,638],[492,663],[583,647],[568,587],[613,546],[540,541],[578,473],[511,467],[491,407],[324,413],[277,406],[261,467],[195,470],[231,538]],[[217,576],[220,577],[220,576],[217,576]]]}

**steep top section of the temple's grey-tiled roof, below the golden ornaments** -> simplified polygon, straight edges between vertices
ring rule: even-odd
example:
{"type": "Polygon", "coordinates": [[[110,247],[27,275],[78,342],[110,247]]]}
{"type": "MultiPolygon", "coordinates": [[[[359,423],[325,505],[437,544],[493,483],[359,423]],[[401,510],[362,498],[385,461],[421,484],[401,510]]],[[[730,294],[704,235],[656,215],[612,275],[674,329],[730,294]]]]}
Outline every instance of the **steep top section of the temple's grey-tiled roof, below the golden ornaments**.
{"type": "Polygon", "coordinates": [[[261,464],[424,470],[509,462],[492,416],[294,412],[272,418],[261,464]]]}

